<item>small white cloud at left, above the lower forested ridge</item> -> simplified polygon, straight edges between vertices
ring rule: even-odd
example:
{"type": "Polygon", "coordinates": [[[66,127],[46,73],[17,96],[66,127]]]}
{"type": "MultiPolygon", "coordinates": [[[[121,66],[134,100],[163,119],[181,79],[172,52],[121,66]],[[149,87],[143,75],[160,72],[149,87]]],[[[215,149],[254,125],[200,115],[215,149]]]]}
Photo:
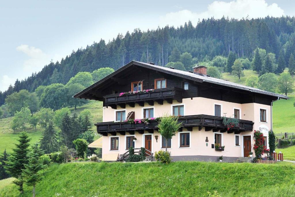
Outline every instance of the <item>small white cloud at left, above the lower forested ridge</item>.
{"type": "Polygon", "coordinates": [[[19,45],[17,51],[25,53],[29,58],[23,62],[23,71],[32,73],[42,69],[45,64],[50,63],[50,58],[40,48],[29,45],[19,45]]]}

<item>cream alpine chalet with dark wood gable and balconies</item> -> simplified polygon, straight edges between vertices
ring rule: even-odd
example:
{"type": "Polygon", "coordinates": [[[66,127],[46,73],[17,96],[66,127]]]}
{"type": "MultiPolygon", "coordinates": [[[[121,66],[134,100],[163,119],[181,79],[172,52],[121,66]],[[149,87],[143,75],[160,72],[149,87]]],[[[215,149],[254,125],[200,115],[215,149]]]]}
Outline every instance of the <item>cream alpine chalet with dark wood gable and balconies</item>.
{"type": "Polygon", "coordinates": [[[205,66],[193,69],[131,61],[76,94],[103,102],[103,122],[95,124],[102,135],[102,159],[116,160],[130,146],[164,150],[156,118],[165,114],[179,116],[182,123],[167,143],[173,161],[248,157],[254,130],[264,133],[268,148],[272,103],[288,97],[210,77],[205,66]],[[224,116],[238,119],[238,125],[228,129],[224,116]]]}

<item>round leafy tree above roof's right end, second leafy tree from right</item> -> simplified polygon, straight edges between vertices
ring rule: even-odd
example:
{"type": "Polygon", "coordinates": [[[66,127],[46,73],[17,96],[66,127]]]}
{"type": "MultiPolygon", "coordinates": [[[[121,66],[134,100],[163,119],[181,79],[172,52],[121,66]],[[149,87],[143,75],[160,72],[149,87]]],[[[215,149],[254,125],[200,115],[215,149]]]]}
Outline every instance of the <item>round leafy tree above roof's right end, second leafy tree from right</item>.
{"type": "Polygon", "coordinates": [[[262,89],[268,92],[275,92],[277,86],[278,86],[278,82],[276,79],[276,75],[273,73],[263,74],[258,79],[259,89],[262,89]]]}

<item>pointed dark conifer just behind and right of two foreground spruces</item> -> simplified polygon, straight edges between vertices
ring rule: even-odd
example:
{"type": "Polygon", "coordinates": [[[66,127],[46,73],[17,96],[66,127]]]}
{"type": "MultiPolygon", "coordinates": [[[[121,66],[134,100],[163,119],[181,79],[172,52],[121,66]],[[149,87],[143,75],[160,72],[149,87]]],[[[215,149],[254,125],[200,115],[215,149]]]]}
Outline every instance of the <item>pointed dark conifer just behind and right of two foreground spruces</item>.
{"type": "Polygon", "coordinates": [[[43,137],[40,140],[40,148],[45,151],[45,153],[52,153],[58,150],[58,136],[55,131],[52,122],[49,122],[48,127],[43,133],[43,137]]]}

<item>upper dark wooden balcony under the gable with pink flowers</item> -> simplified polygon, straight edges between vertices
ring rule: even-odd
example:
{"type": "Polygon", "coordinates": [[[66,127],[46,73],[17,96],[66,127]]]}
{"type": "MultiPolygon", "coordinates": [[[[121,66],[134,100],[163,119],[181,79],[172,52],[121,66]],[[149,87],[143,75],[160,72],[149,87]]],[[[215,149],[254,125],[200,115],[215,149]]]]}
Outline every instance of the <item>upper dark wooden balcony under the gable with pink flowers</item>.
{"type": "Polygon", "coordinates": [[[183,89],[178,87],[168,87],[155,89],[145,93],[125,94],[122,96],[120,96],[120,94],[105,95],[104,106],[110,106],[113,109],[117,109],[117,106],[120,106],[121,108],[125,108],[126,105],[135,107],[135,103],[137,103],[143,107],[145,102],[149,105],[154,105],[154,102],[163,105],[164,100],[172,104],[172,100],[182,102],[182,98],[183,89]]]}

